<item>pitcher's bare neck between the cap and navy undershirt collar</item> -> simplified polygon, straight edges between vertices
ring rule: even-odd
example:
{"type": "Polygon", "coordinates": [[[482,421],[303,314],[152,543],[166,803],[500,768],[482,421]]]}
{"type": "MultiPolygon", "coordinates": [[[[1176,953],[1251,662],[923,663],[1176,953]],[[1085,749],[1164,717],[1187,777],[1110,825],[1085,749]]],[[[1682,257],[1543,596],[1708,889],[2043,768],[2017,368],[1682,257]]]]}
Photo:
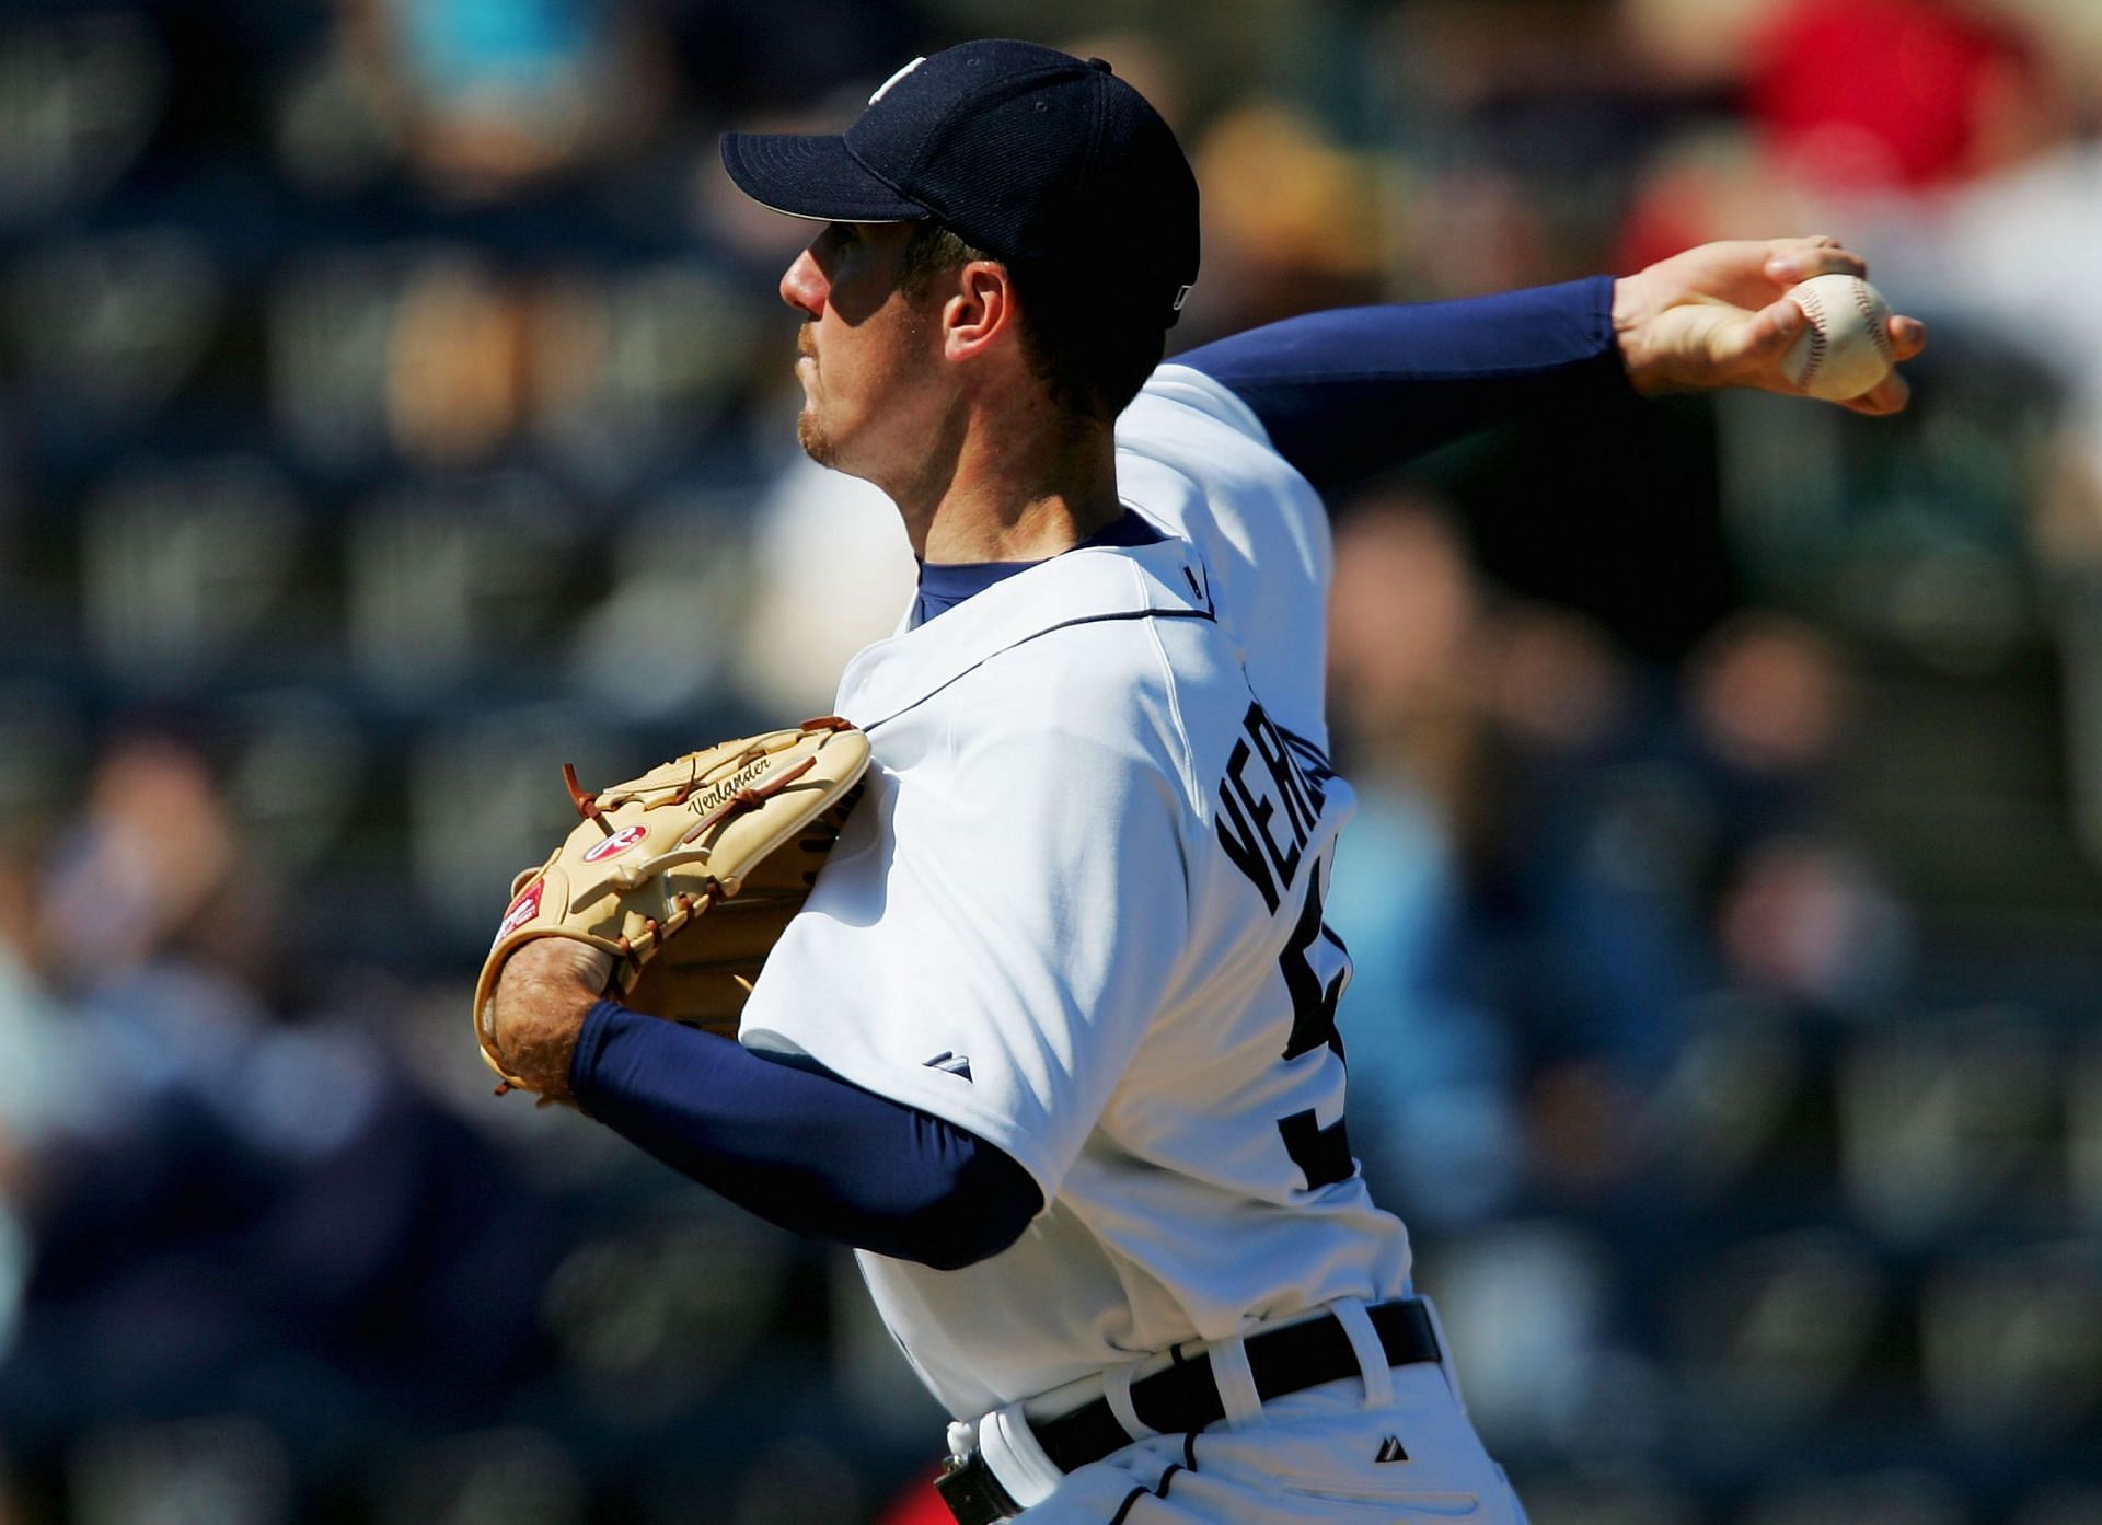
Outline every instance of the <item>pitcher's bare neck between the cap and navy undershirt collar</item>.
{"type": "Polygon", "coordinates": [[[1045,561],[1122,513],[1108,424],[965,429],[954,468],[900,496],[921,561],[1045,561]]]}

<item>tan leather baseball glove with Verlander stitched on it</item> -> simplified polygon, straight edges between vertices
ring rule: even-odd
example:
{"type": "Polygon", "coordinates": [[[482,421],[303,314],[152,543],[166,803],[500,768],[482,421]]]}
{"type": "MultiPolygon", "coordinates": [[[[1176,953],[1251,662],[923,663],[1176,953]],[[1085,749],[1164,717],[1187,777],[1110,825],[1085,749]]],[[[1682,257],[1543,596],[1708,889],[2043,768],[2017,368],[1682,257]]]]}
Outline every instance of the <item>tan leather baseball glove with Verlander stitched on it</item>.
{"type": "Polygon", "coordinates": [[[582,821],[511,884],[475,983],[475,1036],[504,1082],[498,1094],[521,1082],[498,1042],[496,979],[536,937],[610,954],[605,994],[639,1012],[736,1033],[866,769],[868,737],[832,716],[687,752],[597,794],[563,767],[582,821]]]}

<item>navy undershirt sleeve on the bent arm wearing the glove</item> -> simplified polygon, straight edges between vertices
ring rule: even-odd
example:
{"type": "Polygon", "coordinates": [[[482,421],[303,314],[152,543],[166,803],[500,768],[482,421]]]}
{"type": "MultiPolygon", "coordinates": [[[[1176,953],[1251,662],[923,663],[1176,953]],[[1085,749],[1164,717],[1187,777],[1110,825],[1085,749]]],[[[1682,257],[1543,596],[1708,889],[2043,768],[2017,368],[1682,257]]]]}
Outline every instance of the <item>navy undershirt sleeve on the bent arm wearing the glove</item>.
{"type": "Polygon", "coordinates": [[[1043,1208],[1001,1149],[816,1065],[601,1000],[570,1063],[584,1113],[792,1233],[954,1271],[1043,1208]]]}

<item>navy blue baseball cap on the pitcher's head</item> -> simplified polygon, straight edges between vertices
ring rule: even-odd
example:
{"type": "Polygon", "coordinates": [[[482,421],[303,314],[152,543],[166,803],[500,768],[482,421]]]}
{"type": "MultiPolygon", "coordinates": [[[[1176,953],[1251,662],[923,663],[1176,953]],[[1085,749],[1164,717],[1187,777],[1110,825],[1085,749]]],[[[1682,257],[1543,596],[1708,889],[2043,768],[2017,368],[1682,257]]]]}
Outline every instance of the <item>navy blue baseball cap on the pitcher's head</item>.
{"type": "Polygon", "coordinates": [[[1028,292],[1171,328],[1196,281],[1196,174],[1101,59],[982,40],[914,59],[841,137],[725,132],[723,168],[776,212],[933,218],[1028,292]]]}

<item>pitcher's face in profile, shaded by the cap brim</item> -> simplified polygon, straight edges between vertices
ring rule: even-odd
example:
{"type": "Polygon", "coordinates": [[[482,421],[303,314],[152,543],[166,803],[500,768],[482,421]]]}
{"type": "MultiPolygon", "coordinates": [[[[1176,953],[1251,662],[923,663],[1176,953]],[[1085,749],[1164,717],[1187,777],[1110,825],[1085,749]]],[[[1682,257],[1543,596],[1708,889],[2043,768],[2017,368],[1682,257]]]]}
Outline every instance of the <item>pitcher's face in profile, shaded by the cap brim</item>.
{"type": "Polygon", "coordinates": [[[910,223],[826,223],[782,275],[782,300],[805,315],[797,336],[811,460],[883,479],[912,456],[914,405],[940,357],[933,302],[898,290],[910,223]]]}

